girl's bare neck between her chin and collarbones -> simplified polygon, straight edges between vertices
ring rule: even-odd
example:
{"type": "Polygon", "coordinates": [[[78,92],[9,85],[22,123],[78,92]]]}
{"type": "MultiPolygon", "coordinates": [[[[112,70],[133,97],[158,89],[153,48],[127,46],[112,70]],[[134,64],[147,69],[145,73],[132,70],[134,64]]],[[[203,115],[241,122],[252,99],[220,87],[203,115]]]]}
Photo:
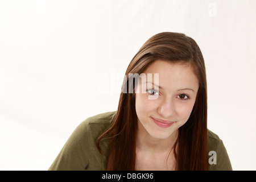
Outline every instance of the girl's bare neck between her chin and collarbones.
{"type": "Polygon", "coordinates": [[[168,152],[174,146],[178,135],[178,130],[165,139],[158,139],[151,137],[150,134],[142,126],[141,122],[138,122],[136,148],[140,151],[147,152],[168,152]]]}

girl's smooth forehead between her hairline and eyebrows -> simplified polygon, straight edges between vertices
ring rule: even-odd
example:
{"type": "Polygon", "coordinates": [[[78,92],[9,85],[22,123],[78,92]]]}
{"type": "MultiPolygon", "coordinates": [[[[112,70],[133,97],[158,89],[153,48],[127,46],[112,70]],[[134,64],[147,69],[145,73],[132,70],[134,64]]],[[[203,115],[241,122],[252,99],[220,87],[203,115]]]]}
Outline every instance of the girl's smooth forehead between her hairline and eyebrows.
{"type": "Polygon", "coordinates": [[[163,88],[172,86],[179,89],[189,86],[196,89],[199,86],[199,81],[189,64],[156,60],[143,73],[152,73],[152,78],[154,77],[154,73],[158,73],[159,86],[163,88]]]}

